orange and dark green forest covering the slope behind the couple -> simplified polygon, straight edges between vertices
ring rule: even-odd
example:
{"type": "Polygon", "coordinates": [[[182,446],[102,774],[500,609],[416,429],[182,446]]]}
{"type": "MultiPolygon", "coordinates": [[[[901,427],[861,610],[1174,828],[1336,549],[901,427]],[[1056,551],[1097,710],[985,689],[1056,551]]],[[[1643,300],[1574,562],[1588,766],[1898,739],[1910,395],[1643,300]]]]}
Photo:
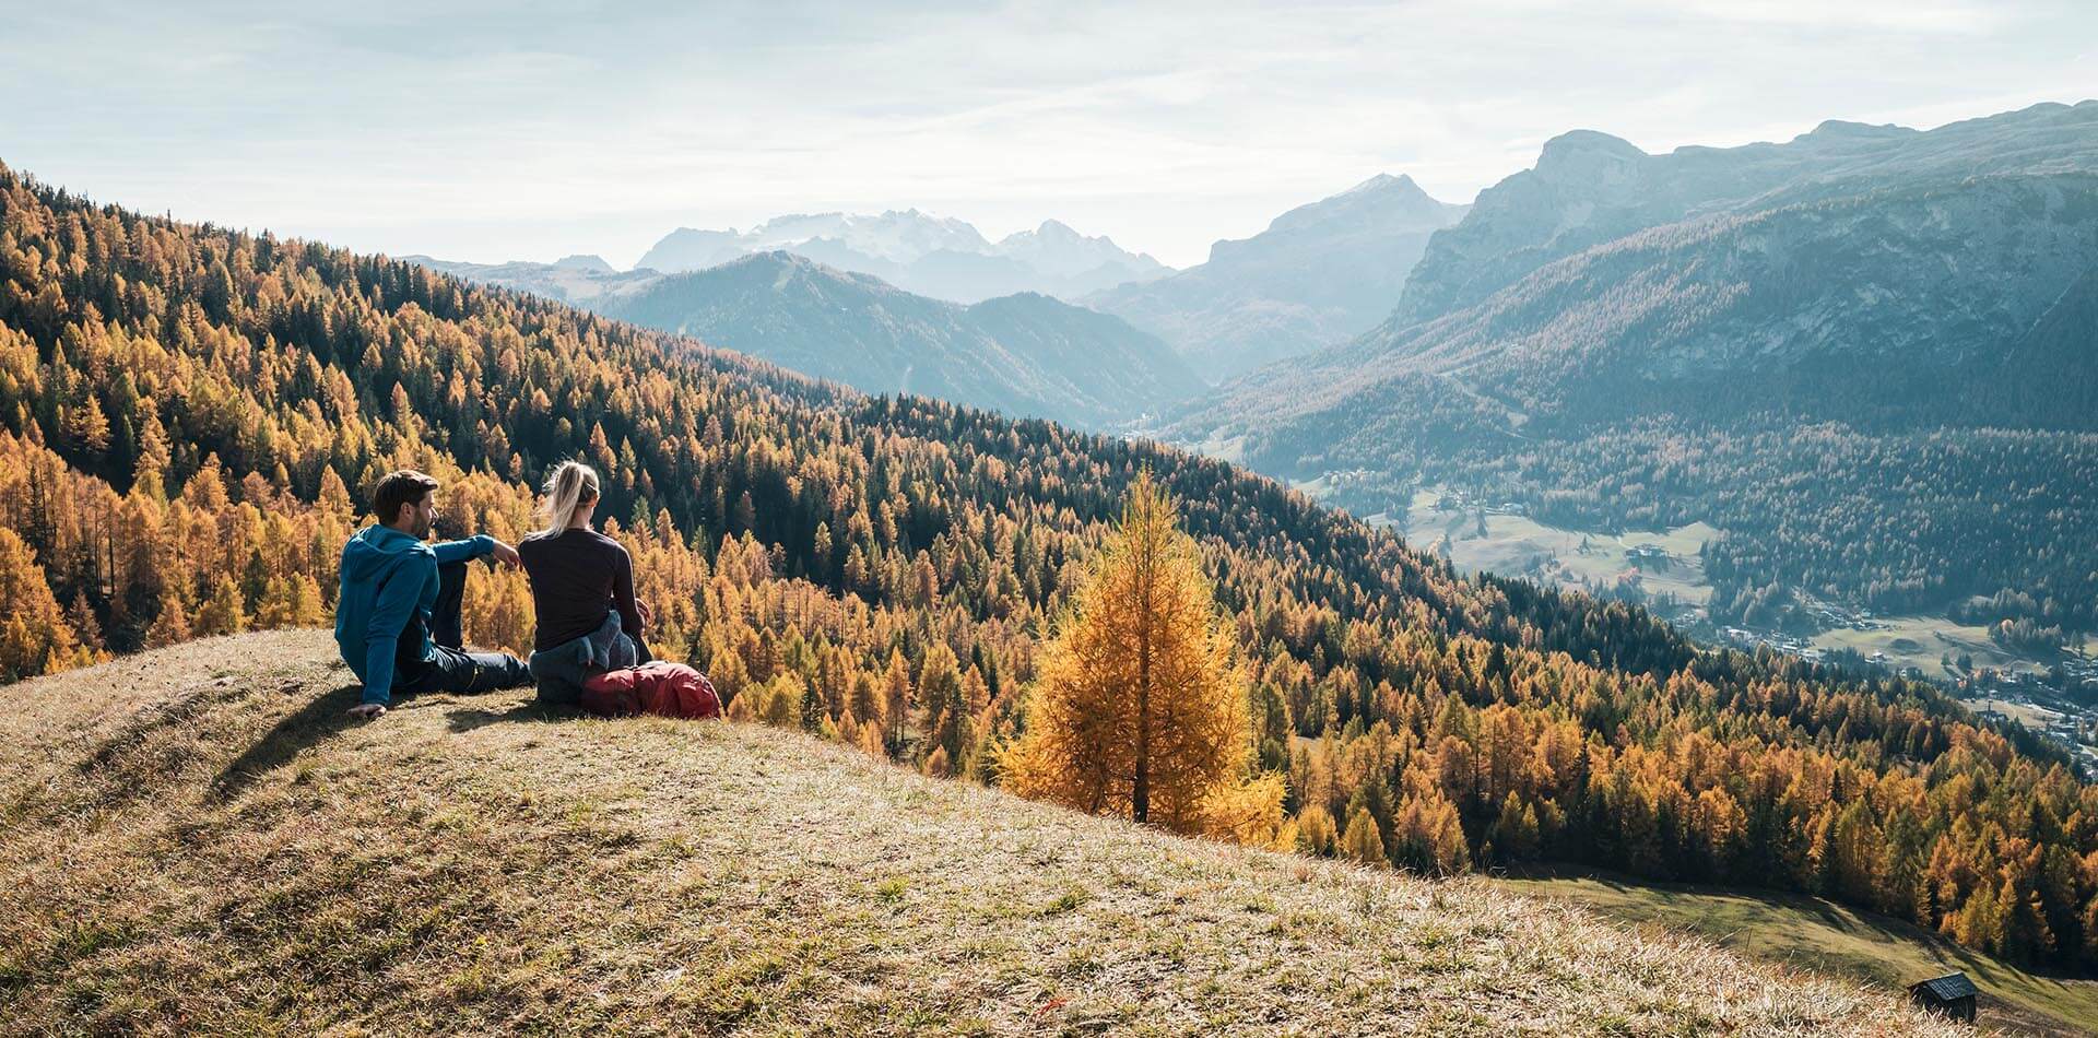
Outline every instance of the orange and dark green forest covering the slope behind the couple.
{"type": "MultiPolygon", "coordinates": [[[[1036,644],[1150,466],[1246,667],[1248,767],[1286,780],[1278,843],[1813,889],[2098,963],[2098,795],[1928,686],[1699,652],[1639,608],[1460,579],[1154,445],[864,398],[0,170],[10,675],[315,623],[380,472],[438,474],[447,524],[516,537],[531,480],[571,455],[611,476],[600,514],[657,648],[736,717],[997,782],[1036,644]]],[[[522,579],[472,572],[470,637],[527,646],[522,579]]]]}

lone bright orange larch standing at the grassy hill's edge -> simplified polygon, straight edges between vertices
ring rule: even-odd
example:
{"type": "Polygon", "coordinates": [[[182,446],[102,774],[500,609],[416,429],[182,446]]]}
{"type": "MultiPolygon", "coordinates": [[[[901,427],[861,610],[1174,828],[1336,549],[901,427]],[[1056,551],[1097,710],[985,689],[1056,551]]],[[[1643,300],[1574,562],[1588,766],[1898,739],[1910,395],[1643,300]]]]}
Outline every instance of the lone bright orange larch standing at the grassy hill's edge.
{"type": "Polygon", "coordinates": [[[1269,843],[1282,782],[1248,776],[1232,633],[1175,505],[1137,474],[1122,524],[1045,646],[1007,788],[1175,832],[1269,843]]]}

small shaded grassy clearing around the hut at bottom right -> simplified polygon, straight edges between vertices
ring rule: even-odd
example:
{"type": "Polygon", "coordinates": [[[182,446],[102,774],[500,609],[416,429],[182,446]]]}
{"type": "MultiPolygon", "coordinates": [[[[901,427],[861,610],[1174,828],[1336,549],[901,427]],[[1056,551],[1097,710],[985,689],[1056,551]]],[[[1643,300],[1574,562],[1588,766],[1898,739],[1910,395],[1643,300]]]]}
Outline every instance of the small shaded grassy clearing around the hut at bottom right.
{"type": "Polygon", "coordinates": [[[1981,990],[1981,1023],[2008,1034],[2098,1032],[2098,983],[2027,973],[1911,923],[1825,898],[1641,883],[1613,874],[1521,874],[1521,893],[1559,898],[1611,918],[1697,933],[1754,958],[1783,960],[1890,988],[1953,969],[1981,990]]]}

